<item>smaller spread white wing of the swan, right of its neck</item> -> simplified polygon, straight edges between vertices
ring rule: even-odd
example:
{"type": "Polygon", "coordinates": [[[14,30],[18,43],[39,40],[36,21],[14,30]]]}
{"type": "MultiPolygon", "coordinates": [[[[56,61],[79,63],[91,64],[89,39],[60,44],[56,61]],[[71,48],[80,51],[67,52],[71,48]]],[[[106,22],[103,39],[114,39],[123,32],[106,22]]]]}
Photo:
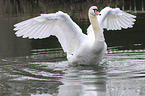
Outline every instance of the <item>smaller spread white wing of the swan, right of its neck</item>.
{"type": "Polygon", "coordinates": [[[98,21],[102,28],[107,30],[121,30],[121,28],[131,28],[136,21],[136,16],[126,13],[119,8],[106,7],[101,10],[98,21]]]}

